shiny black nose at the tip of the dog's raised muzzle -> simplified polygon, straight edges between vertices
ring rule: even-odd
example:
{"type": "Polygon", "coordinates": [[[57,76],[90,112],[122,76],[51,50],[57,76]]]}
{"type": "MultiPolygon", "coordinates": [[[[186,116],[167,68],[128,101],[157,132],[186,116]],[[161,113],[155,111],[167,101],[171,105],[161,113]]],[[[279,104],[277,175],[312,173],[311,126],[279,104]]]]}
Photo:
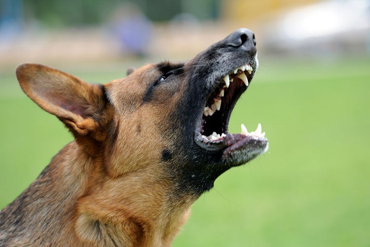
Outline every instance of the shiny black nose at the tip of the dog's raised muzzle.
{"type": "Polygon", "coordinates": [[[248,50],[256,49],[256,37],[255,34],[246,28],[236,30],[234,33],[226,37],[226,42],[232,47],[244,46],[248,50]]]}

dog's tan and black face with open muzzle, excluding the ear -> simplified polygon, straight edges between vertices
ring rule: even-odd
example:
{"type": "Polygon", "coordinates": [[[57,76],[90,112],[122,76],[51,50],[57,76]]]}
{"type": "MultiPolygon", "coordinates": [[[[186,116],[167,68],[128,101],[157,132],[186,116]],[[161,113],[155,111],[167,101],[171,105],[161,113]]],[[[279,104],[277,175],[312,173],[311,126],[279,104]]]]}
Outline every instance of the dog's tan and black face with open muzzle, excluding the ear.
{"type": "Polygon", "coordinates": [[[106,85],[119,120],[112,176],[157,166],[178,194],[199,196],[224,171],[267,150],[260,125],[228,133],[231,112],[258,69],[253,43],[230,45],[233,35],[187,63],[147,65],[106,85]]]}

